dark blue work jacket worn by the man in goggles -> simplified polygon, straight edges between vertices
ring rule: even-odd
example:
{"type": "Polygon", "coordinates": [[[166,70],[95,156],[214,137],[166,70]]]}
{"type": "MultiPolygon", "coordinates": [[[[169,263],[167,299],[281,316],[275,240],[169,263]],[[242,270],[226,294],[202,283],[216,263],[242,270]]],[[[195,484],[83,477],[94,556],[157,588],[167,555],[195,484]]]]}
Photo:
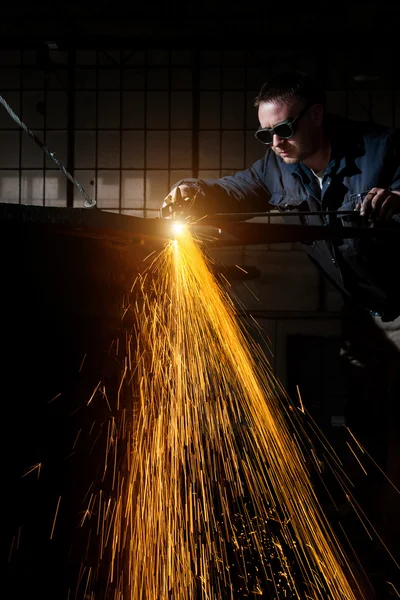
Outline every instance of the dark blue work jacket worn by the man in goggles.
{"type": "Polygon", "coordinates": [[[199,190],[197,212],[263,212],[278,209],[285,222],[343,227],[343,239],[305,245],[311,260],[328,279],[368,311],[392,320],[400,314],[400,218],[390,219],[398,234],[387,239],[346,239],[346,226],[362,226],[362,218],[342,216],[355,209],[373,187],[400,191],[399,131],[372,123],[327,117],[331,160],[322,189],[302,163],[285,164],[271,149],[249,169],[218,180],[185,179],[199,190]],[[316,216],[292,211],[318,211],[316,216]],[[324,216],[325,211],[336,215],[324,216]]]}

